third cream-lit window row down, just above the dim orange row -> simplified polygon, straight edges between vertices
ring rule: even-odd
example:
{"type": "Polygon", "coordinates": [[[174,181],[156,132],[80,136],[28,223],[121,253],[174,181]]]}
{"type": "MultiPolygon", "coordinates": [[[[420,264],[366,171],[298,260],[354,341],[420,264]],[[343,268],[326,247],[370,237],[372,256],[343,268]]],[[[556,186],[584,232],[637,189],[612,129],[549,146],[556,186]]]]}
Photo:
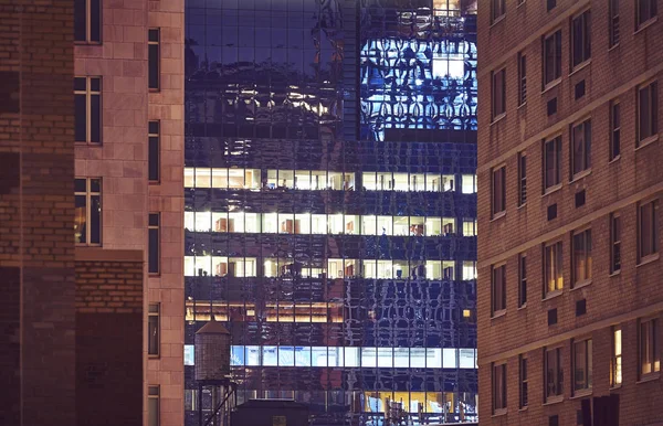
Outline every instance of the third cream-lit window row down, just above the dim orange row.
{"type": "MultiPolygon", "coordinates": [[[[454,260],[383,260],[329,258],[318,266],[304,265],[292,258],[225,256],[185,256],[185,276],[215,277],[323,277],[373,279],[425,278],[455,279],[454,260]],[[326,264],[326,265],[325,265],[326,264]],[[260,269],[260,270],[259,270],[260,269]]],[[[462,279],[476,278],[476,263],[462,262],[462,279]]]]}

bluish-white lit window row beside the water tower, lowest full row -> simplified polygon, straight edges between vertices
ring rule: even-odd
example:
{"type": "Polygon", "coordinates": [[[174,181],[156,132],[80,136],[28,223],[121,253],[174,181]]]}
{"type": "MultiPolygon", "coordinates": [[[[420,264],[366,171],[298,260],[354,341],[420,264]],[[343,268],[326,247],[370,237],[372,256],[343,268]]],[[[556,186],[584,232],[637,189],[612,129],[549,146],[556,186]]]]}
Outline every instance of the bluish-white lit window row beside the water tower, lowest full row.
{"type": "MultiPolygon", "coordinates": [[[[185,364],[193,365],[193,345],[185,345],[185,364]]],[[[357,348],[232,345],[233,366],[332,366],[476,369],[471,348],[357,348]]]]}

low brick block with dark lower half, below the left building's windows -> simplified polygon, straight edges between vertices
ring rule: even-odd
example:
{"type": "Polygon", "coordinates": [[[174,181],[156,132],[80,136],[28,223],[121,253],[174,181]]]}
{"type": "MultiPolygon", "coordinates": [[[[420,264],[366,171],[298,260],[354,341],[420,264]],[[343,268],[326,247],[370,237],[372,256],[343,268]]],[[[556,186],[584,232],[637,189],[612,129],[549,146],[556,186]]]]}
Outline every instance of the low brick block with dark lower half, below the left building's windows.
{"type": "Polygon", "coordinates": [[[140,260],[76,260],[76,417],[143,424],[140,260]]]}

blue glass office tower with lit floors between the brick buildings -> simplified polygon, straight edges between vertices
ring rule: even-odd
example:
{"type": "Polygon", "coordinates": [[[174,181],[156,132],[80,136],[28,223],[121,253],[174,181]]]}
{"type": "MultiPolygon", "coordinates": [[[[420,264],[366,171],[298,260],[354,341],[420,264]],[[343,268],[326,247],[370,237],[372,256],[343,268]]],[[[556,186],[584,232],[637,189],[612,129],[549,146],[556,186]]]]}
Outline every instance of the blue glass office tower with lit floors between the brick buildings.
{"type": "Polygon", "coordinates": [[[240,403],[294,398],[318,425],[382,425],[388,405],[476,418],[474,13],[187,1],[187,425],[212,315],[240,403]]]}

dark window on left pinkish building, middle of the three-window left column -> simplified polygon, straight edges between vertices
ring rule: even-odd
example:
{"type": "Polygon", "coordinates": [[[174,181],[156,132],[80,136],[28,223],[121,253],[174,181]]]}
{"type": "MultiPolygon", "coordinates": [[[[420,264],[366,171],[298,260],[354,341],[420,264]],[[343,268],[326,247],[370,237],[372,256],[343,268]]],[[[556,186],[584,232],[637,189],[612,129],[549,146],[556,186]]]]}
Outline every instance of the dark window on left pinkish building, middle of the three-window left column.
{"type": "Polygon", "coordinates": [[[102,78],[74,78],[74,139],[83,143],[102,142],[102,78]]]}

